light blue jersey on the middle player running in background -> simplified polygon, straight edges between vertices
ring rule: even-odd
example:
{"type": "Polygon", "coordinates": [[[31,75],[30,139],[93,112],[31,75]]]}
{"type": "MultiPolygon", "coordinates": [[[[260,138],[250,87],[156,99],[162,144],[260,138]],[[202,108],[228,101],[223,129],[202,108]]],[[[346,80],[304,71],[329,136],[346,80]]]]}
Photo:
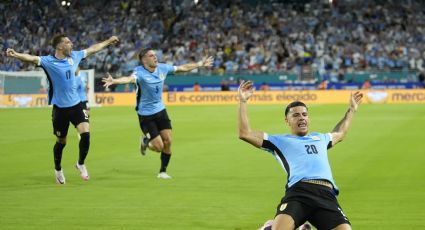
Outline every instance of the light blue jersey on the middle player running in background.
{"type": "Polygon", "coordinates": [[[168,74],[173,74],[176,67],[167,64],[158,64],[153,73],[143,66],[137,66],[132,76],[137,84],[137,105],[139,115],[148,116],[165,109],[162,102],[162,89],[168,74]]]}

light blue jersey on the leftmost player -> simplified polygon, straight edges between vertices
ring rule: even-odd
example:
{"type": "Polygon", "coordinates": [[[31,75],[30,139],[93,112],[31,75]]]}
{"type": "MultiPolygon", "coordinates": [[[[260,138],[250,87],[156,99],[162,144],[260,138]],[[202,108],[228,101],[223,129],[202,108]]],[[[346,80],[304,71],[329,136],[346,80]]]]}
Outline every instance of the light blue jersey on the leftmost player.
{"type": "Polygon", "coordinates": [[[40,57],[39,65],[46,72],[49,80],[49,105],[66,108],[80,103],[75,70],[85,57],[85,50],[71,51],[71,56],[64,59],[57,59],[52,55],[40,57]]]}

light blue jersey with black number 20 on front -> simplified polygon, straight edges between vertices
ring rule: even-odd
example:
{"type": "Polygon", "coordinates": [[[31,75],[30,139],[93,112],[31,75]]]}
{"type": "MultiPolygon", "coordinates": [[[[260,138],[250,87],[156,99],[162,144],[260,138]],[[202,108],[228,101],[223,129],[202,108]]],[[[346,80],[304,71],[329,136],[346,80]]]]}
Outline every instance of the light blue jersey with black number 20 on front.
{"type": "Polygon", "coordinates": [[[328,161],[331,143],[330,133],[303,137],[265,134],[262,149],[271,152],[288,173],[287,188],[301,180],[320,179],[331,182],[338,194],[328,161]]]}

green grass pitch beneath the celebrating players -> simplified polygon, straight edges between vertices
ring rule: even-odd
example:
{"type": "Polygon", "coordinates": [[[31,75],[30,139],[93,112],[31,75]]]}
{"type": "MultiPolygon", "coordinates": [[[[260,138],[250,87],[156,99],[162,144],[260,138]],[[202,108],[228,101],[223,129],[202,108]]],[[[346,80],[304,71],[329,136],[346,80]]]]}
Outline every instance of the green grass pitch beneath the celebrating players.
{"type": "MultiPolygon", "coordinates": [[[[310,107],[310,131],[328,132],[345,105],[310,107]]],[[[236,106],[169,107],[169,181],[159,156],[138,152],[132,107],[93,108],[91,180],[73,168],[70,128],[65,186],[55,183],[51,111],[0,109],[0,229],[256,229],[274,216],[286,173],[240,141],[236,106]]],[[[249,106],[251,126],[288,132],[283,106],[249,106]]],[[[346,139],[330,150],[339,202],[354,229],[425,229],[425,106],[361,105],[346,139]]]]}

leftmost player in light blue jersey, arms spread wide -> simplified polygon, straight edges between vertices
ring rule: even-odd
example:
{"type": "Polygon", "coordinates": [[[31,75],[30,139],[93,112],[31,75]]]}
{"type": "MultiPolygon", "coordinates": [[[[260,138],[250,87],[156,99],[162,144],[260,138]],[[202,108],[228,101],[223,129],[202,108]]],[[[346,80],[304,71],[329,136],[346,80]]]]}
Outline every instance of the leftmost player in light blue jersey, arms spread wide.
{"type": "Polygon", "coordinates": [[[90,146],[89,117],[83,110],[81,99],[77,92],[75,70],[80,61],[103,48],[118,42],[116,36],[97,43],[81,51],[72,50],[71,40],[64,34],[57,35],[52,40],[55,48],[54,55],[34,56],[18,53],[8,48],[6,55],[24,62],[41,66],[49,81],[48,102],[53,104],[52,123],[56,143],[53,147],[56,182],[65,184],[65,176],[61,166],[62,152],[66,145],[69,122],[71,122],[81,135],[79,142],[79,159],[75,167],[79,170],[83,180],[89,179],[89,174],[84,161],[90,146]]]}

